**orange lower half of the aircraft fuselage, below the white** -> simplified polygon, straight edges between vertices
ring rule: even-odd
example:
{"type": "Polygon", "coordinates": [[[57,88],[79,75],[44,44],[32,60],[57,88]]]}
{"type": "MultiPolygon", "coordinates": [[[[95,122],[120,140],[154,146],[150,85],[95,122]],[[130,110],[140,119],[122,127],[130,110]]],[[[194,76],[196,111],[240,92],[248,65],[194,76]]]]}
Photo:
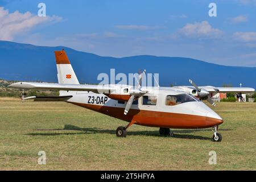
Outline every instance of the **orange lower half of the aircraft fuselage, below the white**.
{"type": "Polygon", "coordinates": [[[70,102],[77,106],[85,107],[111,117],[122,119],[123,121],[136,121],[137,125],[151,127],[169,127],[172,129],[199,129],[220,125],[220,119],[203,117],[191,114],[166,113],[160,111],[149,111],[130,109],[127,115],[123,114],[124,108],[109,107],[91,104],[70,102]]]}

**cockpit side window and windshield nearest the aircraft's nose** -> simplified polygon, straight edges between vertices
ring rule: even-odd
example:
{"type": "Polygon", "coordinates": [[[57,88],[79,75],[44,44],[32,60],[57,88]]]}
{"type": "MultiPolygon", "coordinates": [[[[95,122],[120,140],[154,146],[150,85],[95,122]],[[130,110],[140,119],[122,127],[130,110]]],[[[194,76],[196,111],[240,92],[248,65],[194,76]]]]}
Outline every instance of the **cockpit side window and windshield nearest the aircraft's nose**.
{"type": "Polygon", "coordinates": [[[166,97],[166,105],[167,106],[174,106],[178,104],[182,104],[185,102],[196,102],[198,101],[193,96],[189,96],[188,94],[179,94],[174,96],[167,96],[166,97]]]}

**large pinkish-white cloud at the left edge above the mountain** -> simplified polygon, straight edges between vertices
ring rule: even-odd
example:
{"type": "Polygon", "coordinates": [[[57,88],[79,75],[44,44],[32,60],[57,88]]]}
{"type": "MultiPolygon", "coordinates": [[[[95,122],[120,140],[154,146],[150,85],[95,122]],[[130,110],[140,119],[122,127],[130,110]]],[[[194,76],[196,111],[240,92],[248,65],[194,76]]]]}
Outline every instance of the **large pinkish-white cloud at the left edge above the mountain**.
{"type": "Polygon", "coordinates": [[[27,32],[42,23],[60,21],[59,16],[39,17],[38,15],[27,13],[9,13],[0,7],[0,40],[13,40],[20,33],[27,32]]]}

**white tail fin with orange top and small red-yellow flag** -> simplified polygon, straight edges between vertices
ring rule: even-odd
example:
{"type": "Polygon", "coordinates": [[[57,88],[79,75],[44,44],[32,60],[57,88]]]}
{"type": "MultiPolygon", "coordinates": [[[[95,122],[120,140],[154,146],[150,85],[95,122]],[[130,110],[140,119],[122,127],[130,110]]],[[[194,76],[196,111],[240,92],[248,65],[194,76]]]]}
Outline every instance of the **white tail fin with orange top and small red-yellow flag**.
{"type": "Polygon", "coordinates": [[[68,60],[68,56],[64,49],[55,51],[59,84],[79,84],[76,74],[68,60]]]}

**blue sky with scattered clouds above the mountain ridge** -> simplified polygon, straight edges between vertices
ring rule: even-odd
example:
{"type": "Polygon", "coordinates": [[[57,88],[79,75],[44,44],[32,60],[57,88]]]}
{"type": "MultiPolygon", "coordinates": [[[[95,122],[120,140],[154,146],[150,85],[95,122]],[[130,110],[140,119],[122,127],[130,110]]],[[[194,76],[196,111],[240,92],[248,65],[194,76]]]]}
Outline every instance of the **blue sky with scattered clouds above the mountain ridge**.
{"type": "Polygon", "coordinates": [[[0,40],[256,67],[256,0],[0,0],[0,7],[7,22],[0,21],[0,40]],[[40,2],[47,17],[37,16],[40,2]],[[208,15],[210,2],[217,17],[208,15]]]}

